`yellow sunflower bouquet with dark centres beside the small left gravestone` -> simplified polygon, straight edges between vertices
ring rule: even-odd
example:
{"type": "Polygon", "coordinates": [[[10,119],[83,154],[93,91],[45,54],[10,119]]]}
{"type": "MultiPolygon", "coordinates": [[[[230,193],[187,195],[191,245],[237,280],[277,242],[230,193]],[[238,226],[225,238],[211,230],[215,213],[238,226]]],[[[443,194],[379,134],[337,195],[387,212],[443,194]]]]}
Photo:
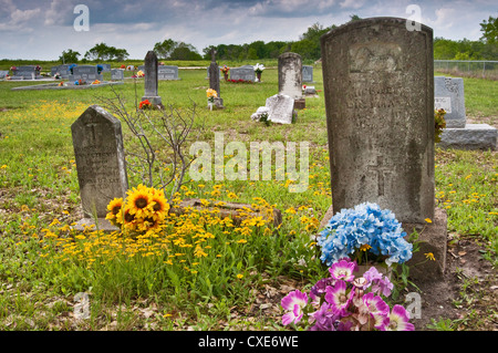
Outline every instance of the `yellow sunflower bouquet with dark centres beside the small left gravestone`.
{"type": "Polygon", "coordinates": [[[163,190],[138,185],[126,193],[126,200],[115,198],[107,205],[106,219],[122,231],[160,230],[169,211],[163,190]]]}

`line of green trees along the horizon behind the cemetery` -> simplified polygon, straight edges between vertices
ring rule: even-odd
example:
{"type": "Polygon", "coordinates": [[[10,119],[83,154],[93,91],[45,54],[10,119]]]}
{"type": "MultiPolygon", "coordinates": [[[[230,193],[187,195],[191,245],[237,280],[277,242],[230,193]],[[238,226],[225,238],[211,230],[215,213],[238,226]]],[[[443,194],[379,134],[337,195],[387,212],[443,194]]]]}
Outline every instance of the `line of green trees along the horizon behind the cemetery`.
{"type": "MultiPolygon", "coordinates": [[[[361,20],[356,14],[350,21],[361,20]]],[[[478,41],[467,39],[454,41],[444,38],[434,40],[434,59],[436,60],[498,60],[498,18],[489,17],[479,23],[483,37],[478,41]]],[[[203,49],[203,54],[194,45],[166,39],[154,45],[160,60],[210,60],[212,49],[217,58],[225,61],[242,61],[258,59],[277,59],[284,52],[294,52],[303,60],[318,60],[321,58],[320,37],[335,29],[336,25],[323,27],[319,22],[308,28],[298,41],[255,41],[245,44],[219,44],[203,49]]],[[[81,54],[71,49],[62,52],[60,61],[75,63],[81,54]]],[[[84,55],[82,61],[125,61],[129,56],[125,49],[117,49],[105,43],[95,44],[84,55]]]]}

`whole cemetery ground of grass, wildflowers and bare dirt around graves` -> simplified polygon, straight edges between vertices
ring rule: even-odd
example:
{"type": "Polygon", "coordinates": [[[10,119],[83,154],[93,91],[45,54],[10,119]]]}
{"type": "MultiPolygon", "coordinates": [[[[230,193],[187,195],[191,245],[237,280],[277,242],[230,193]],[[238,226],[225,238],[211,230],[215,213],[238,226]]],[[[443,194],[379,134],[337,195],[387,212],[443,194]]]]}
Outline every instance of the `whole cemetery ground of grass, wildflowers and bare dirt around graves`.
{"type": "MultiPolygon", "coordinates": [[[[133,243],[133,256],[118,253],[116,236],[69,230],[82,218],[71,124],[98,104],[97,97],[112,97],[111,89],[15,92],[11,89],[31,83],[2,82],[0,330],[292,330],[281,324],[280,300],[326,273],[311,238],[331,204],[321,68],[311,84],[318,97],[307,98],[292,125],[250,120],[278,93],[274,69],[263,71],[261,83],[221,81],[226,108],[212,112],[207,108],[206,69],[180,70],[179,76],[181,81],[159,81],[159,95],[181,114],[196,104],[200,141],[210,143],[214,133],[222,132],[225,144],[245,142],[248,149],[250,142],[309,142],[308,190],[289,193],[289,179],[187,179],[177,200],[274,207],[282,211],[282,224],[253,218],[237,229],[211,219],[205,226],[214,238],[206,239],[209,246],[200,257],[194,255],[194,239],[184,239],[183,251],[158,251],[151,246],[160,239],[142,239],[133,243]],[[80,292],[89,294],[89,319],[74,315],[80,292]]],[[[498,127],[496,82],[464,82],[468,120],[498,127]]],[[[143,81],[136,85],[139,101],[143,81]]],[[[134,82],[115,90],[132,110],[134,82]]],[[[125,124],[123,129],[126,149],[129,132],[125,124]]],[[[160,145],[157,150],[167,153],[160,145]]],[[[133,174],[128,179],[131,187],[142,181],[133,174]]],[[[412,320],[417,330],[497,330],[497,185],[496,152],[436,147],[436,203],[448,215],[448,263],[442,281],[415,283],[423,302],[422,319],[412,320]]],[[[199,215],[193,217],[191,226],[200,221],[199,215]]],[[[400,278],[396,289],[400,303],[417,291],[400,278]]]]}

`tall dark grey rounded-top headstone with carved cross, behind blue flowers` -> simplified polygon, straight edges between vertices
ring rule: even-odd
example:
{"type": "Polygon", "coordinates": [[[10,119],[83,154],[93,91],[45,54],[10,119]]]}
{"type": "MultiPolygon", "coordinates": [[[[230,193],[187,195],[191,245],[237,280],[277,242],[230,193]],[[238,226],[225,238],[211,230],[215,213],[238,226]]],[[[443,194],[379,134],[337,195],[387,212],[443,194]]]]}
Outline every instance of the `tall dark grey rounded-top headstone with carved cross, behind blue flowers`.
{"type": "Polygon", "coordinates": [[[434,217],[433,30],[373,18],[321,38],[333,211],[376,203],[434,217]]]}

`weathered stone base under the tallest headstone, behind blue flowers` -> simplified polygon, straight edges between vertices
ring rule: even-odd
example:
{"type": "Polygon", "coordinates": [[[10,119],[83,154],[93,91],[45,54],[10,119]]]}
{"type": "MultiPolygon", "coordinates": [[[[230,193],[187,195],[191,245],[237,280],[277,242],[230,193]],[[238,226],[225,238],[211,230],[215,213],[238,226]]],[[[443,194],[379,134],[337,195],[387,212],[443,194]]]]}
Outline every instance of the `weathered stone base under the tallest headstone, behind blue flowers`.
{"type": "MultiPolygon", "coordinates": [[[[323,229],[333,216],[332,206],[323,216],[319,230],[323,229]]],[[[417,281],[433,281],[443,277],[446,269],[446,243],[447,243],[447,215],[444,209],[436,208],[432,224],[413,225],[404,224],[403,229],[409,236],[414,229],[418,231],[418,251],[413,253],[409,261],[409,277],[417,281]],[[432,252],[435,261],[427,260],[425,253],[432,252]],[[426,261],[427,260],[427,261],[426,261]]]]}

